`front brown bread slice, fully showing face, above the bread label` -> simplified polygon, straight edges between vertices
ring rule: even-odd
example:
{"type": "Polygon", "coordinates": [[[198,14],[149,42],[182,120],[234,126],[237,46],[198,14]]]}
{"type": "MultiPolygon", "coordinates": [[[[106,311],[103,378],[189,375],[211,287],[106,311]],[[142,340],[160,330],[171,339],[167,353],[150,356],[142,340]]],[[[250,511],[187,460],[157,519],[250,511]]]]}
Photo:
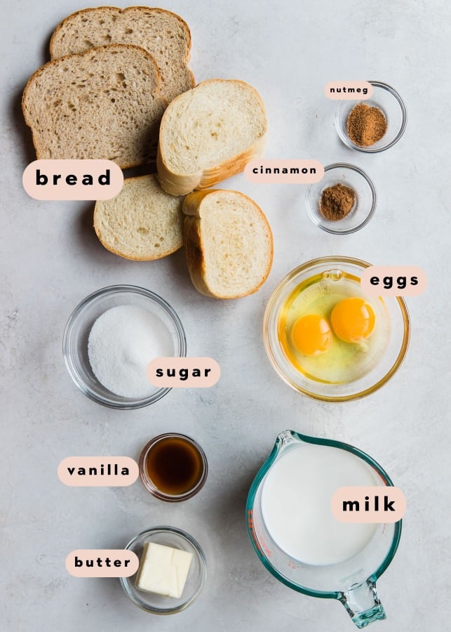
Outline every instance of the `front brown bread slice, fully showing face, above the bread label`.
{"type": "Polygon", "coordinates": [[[25,122],[41,158],[105,158],[123,169],[155,157],[166,101],[154,59],[114,44],[48,62],[29,79],[25,122]]]}

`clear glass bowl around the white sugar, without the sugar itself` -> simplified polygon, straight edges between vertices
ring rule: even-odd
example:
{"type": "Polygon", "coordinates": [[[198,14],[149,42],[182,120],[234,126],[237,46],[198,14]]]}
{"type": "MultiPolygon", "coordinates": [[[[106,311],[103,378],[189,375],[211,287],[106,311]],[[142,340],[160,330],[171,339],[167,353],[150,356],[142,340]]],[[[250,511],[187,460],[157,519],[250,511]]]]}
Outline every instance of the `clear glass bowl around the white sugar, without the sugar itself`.
{"type": "MultiPolygon", "coordinates": [[[[76,306],[67,321],[62,340],[62,353],[67,371],[82,393],[94,402],[130,410],[153,404],[166,395],[170,388],[156,388],[149,383],[149,394],[138,399],[121,397],[102,386],[93,374],[88,358],[88,337],[97,318],[116,305],[138,305],[161,320],[162,328],[168,332],[175,357],[187,355],[187,341],[179,317],[160,296],[143,287],[134,285],[112,285],[87,296],[76,306]]],[[[149,362],[152,358],[149,358],[149,362]]]]}

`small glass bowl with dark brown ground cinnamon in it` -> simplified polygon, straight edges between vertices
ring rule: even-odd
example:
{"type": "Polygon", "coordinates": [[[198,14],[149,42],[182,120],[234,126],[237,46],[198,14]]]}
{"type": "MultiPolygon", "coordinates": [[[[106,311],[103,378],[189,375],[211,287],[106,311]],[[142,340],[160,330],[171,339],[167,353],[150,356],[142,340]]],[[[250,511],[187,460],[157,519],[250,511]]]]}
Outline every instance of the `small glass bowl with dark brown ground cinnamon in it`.
{"type": "Polygon", "coordinates": [[[306,206],[314,224],[334,235],[363,228],[376,209],[377,194],[369,176],[354,164],[336,162],[307,190],[306,206]]]}

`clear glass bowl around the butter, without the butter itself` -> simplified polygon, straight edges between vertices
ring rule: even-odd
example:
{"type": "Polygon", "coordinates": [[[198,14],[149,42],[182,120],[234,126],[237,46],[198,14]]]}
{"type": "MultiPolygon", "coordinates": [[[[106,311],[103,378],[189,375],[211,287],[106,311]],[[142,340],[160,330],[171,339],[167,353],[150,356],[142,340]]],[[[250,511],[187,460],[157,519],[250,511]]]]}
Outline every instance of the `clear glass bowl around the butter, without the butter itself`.
{"type": "Polygon", "coordinates": [[[172,546],[173,548],[179,548],[182,551],[192,553],[193,558],[182,596],[179,599],[175,599],[172,597],[163,597],[163,595],[157,595],[156,593],[140,591],[135,586],[137,573],[130,577],[120,578],[123,590],[135,605],[146,612],[152,612],[152,614],[176,614],[177,612],[182,612],[182,610],[185,610],[185,608],[194,603],[206,584],[207,562],[201,547],[193,537],[182,531],[182,529],[175,529],[174,527],[153,527],[133,538],[133,540],[127,544],[126,550],[133,551],[138,558],[141,558],[145,542],[172,546]]]}

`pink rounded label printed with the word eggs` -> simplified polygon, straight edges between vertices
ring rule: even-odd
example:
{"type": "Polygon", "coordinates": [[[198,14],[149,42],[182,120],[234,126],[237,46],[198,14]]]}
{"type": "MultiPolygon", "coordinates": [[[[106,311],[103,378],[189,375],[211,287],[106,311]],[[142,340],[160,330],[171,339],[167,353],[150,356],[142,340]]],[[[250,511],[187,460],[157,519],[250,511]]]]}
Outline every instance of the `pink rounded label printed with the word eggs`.
{"type": "Polygon", "coordinates": [[[419,296],[427,277],[417,265],[371,265],[362,272],[361,287],[370,296],[419,296]]]}

